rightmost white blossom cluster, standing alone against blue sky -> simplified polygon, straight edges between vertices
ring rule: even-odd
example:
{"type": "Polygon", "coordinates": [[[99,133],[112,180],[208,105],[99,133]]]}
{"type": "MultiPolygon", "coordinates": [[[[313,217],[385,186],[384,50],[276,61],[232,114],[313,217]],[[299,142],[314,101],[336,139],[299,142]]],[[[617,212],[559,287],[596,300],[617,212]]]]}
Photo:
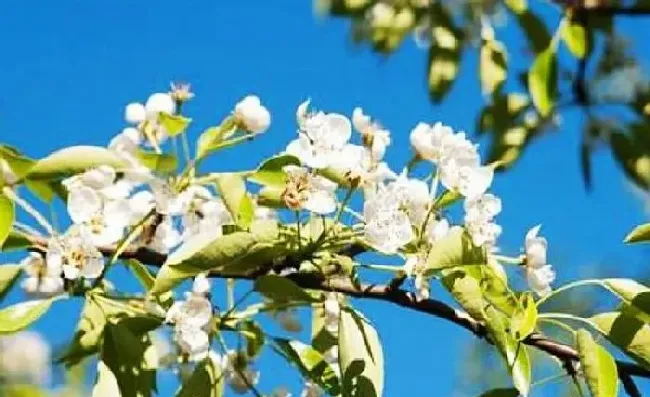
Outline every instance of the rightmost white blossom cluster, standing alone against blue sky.
{"type": "Polygon", "coordinates": [[[541,225],[531,228],[526,233],[526,279],[530,289],[539,296],[551,292],[551,283],[555,281],[555,272],[551,265],[546,263],[547,242],[544,237],[538,237],[541,225]]]}

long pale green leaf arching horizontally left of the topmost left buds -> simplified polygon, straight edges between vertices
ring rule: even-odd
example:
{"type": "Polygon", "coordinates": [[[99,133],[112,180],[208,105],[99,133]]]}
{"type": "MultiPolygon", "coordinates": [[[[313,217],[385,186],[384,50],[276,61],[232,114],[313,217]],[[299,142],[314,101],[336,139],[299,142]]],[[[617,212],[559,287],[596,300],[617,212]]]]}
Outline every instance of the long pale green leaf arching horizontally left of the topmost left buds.
{"type": "Polygon", "coordinates": [[[72,146],[38,160],[28,173],[30,179],[62,178],[108,165],[121,170],[127,165],[115,153],[99,146],[72,146]]]}

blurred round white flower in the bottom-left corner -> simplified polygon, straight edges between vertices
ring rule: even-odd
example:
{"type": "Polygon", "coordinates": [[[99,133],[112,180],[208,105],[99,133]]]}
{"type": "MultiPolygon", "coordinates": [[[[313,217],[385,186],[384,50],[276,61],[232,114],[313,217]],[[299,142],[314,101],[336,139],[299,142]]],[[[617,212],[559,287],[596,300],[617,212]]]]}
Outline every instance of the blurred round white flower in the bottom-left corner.
{"type": "MultiPolygon", "coordinates": [[[[13,384],[46,384],[51,377],[52,349],[40,334],[22,331],[0,337],[0,373],[13,384]]],[[[3,383],[4,383],[3,382],[3,383]]]]}

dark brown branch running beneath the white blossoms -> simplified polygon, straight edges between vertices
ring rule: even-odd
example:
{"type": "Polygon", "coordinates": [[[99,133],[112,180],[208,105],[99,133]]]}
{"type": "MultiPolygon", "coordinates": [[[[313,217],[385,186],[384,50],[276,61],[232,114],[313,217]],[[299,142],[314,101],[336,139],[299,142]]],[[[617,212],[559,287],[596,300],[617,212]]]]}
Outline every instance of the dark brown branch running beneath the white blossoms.
{"type": "MultiPolygon", "coordinates": [[[[47,247],[47,240],[37,236],[27,236],[28,240],[32,243],[32,249],[36,251],[45,251],[47,247]]],[[[100,251],[106,255],[111,256],[115,251],[114,247],[101,247],[100,251]]],[[[341,251],[354,256],[360,253],[361,250],[358,246],[350,246],[341,251]]],[[[166,255],[152,251],[147,248],[127,248],[120,256],[122,259],[137,259],[138,261],[154,266],[161,267],[165,260],[166,255]]],[[[211,271],[210,277],[214,278],[234,278],[244,280],[255,280],[259,274],[227,274],[220,271],[211,271]]],[[[485,325],[469,316],[467,313],[455,309],[448,304],[436,299],[418,300],[415,293],[405,291],[403,289],[391,288],[390,285],[383,284],[360,284],[354,285],[350,280],[344,278],[330,278],[326,279],[319,275],[314,274],[301,274],[294,273],[286,276],[302,288],[340,292],[342,294],[363,299],[374,299],[385,302],[390,302],[401,307],[415,310],[422,313],[427,313],[449,322],[452,322],[466,330],[472,332],[479,338],[484,338],[488,335],[485,325]]],[[[579,361],[578,352],[571,346],[564,343],[552,340],[541,333],[532,333],[523,343],[533,346],[543,352],[557,357],[562,361],[579,361]]],[[[622,382],[626,382],[624,377],[638,376],[643,378],[650,378],[650,371],[645,368],[625,361],[616,361],[618,371],[622,382]]],[[[627,390],[627,388],[626,388],[627,390]]]]}

